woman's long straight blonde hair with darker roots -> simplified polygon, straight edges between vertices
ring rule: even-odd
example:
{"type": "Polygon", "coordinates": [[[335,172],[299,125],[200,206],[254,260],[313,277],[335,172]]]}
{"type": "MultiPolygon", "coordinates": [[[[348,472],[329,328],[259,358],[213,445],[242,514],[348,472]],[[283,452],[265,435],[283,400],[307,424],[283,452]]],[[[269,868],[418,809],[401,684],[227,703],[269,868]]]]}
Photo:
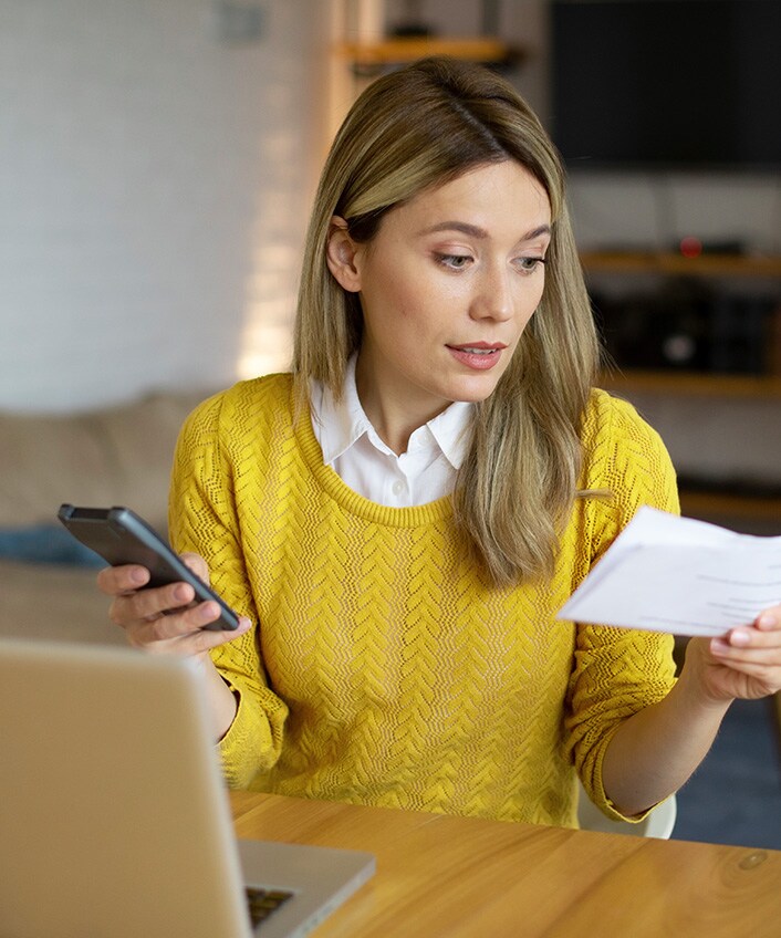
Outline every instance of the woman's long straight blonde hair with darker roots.
{"type": "Polygon", "coordinates": [[[357,294],[326,265],[331,219],[368,242],[386,212],[476,166],[512,159],[542,185],[552,240],[540,305],[493,394],[475,408],[455,519],[498,585],[550,573],[579,494],[580,427],[598,363],[591,306],[564,201],[564,174],[514,88],[479,65],[426,59],[357,98],[329,154],[310,221],[294,332],[299,403],[309,379],[336,397],[361,345],[357,294]]]}

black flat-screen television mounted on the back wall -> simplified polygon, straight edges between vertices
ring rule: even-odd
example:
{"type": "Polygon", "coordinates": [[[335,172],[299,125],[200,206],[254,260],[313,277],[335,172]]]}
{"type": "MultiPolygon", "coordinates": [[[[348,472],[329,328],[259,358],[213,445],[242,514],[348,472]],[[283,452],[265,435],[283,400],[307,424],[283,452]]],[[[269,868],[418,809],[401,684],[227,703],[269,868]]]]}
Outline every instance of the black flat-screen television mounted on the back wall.
{"type": "Polygon", "coordinates": [[[552,0],[570,168],[781,169],[781,0],[552,0]]]}

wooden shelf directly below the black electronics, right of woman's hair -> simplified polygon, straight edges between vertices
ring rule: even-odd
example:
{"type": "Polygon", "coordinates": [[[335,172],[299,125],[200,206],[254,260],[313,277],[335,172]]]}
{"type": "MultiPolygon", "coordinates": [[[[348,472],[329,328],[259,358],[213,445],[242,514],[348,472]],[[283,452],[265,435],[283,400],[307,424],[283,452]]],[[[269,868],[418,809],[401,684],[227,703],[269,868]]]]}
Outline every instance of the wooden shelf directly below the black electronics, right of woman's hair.
{"type": "Polygon", "coordinates": [[[600,386],[606,390],[645,390],[658,394],[685,394],[701,397],[781,397],[781,376],[718,375],[694,372],[645,372],[626,369],[603,372],[600,386]]]}

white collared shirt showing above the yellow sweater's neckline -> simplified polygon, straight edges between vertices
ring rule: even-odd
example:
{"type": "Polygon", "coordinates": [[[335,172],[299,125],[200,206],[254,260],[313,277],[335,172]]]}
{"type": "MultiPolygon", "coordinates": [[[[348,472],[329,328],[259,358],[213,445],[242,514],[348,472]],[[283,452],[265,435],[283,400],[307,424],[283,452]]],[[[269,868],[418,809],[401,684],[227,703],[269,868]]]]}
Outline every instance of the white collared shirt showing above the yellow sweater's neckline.
{"type": "Polygon", "coordinates": [[[412,508],[450,494],[469,444],[472,404],[456,402],[409,437],[397,456],[364,413],[355,385],[357,356],[347,363],[337,404],[311,383],[312,428],[330,466],[353,491],[389,508],[412,508]]]}

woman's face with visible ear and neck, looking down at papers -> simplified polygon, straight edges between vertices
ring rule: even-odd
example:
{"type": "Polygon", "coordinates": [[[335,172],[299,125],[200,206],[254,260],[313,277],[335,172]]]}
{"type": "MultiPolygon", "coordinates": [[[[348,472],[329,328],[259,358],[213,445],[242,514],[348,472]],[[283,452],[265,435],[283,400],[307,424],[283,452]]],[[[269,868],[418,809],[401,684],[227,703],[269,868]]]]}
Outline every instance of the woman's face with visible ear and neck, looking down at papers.
{"type": "Polygon", "coordinates": [[[544,189],[513,160],[425,190],[366,244],[334,220],[329,264],[361,295],[358,394],[378,429],[493,392],[542,296],[550,226],[544,189]]]}

